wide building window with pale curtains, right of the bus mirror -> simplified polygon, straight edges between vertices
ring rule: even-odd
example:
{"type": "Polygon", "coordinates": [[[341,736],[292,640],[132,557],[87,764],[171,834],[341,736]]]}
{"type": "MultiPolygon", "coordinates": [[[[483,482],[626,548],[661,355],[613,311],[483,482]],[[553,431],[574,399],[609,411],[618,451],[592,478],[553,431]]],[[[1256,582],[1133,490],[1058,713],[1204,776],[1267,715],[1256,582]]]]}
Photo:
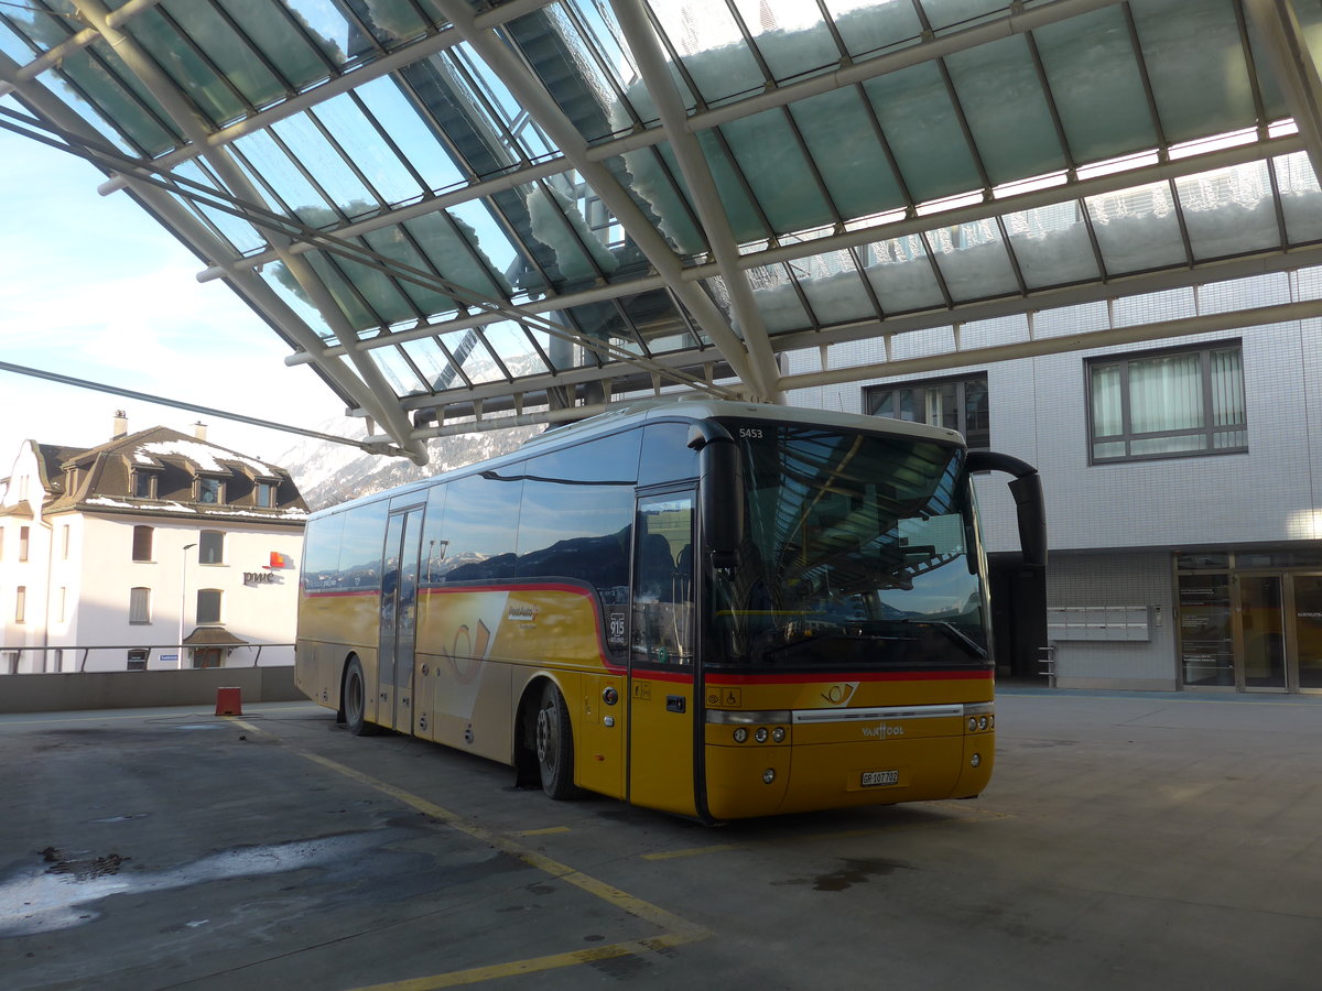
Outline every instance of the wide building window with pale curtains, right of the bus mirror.
{"type": "Polygon", "coordinates": [[[1088,362],[1092,461],[1248,449],[1240,342],[1088,362]]]}

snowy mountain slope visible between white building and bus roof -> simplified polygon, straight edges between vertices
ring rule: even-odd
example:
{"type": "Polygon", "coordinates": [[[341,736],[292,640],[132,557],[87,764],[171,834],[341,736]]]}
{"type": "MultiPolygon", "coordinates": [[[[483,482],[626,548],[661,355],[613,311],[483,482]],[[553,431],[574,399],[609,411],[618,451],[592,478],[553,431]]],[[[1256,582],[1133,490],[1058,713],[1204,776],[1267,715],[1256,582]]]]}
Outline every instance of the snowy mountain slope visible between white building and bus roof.
{"type": "MultiPolygon", "coordinates": [[[[344,418],[328,420],[316,429],[337,436],[366,436],[361,422],[344,418]],[[350,425],[349,429],[345,429],[346,424],[350,425]]],[[[276,464],[293,476],[308,507],[319,510],[508,453],[541,429],[541,427],[512,427],[456,437],[438,437],[427,443],[431,460],[422,466],[403,457],[368,455],[348,444],[307,437],[286,451],[276,464]]]]}

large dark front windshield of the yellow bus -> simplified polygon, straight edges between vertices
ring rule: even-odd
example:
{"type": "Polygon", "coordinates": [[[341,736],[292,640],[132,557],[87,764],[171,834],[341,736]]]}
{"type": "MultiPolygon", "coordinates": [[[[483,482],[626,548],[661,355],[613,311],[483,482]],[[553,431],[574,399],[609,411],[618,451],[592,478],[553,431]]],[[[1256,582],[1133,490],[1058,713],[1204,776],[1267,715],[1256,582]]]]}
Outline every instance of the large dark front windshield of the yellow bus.
{"type": "Polygon", "coordinates": [[[960,448],[724,424],[747,486],[738,564],[710,583],[709,661],[755,669],[992,665],[960,448]]]}

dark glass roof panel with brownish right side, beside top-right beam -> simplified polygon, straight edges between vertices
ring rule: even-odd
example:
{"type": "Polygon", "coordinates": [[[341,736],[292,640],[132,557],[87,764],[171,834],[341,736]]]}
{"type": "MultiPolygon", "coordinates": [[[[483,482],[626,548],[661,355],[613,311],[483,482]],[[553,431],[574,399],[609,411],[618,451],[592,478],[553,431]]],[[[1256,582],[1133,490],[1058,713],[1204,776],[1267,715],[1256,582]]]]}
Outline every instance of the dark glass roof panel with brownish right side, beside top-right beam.
{"type": "Polygon", "coordinates": [[[1130,7],[1167,141],[1257,123],[1231,0],[1145,0],[1130,7]]]}

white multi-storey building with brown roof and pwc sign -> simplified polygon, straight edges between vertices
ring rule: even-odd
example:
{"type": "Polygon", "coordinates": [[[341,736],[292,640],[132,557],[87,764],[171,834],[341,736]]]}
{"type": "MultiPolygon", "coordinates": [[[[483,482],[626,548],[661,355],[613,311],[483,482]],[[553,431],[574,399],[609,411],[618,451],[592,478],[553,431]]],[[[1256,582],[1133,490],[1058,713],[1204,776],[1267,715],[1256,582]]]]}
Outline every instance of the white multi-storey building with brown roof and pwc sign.
{"type": "Polygon", "coordinates": [[[293,662],[290,473],[156,427],[26,441],[0,480],[0,674],[293,662]]]}

